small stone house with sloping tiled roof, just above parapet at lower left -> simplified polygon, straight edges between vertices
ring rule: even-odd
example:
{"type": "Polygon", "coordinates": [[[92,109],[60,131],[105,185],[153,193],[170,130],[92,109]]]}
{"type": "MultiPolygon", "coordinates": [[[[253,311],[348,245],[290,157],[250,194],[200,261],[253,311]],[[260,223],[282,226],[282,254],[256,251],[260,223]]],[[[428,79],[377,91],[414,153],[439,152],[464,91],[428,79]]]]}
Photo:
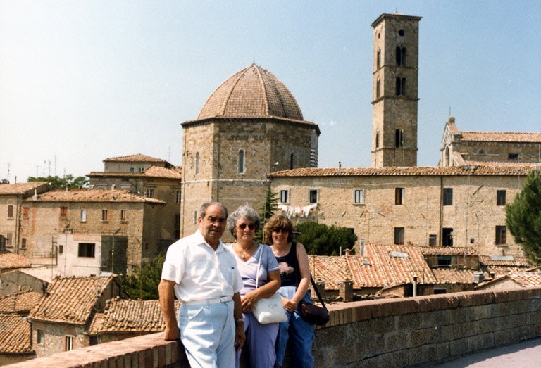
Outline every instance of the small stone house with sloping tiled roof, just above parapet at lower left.
{"type": "Polygon", "coordinates": [[[117,296],[123,295],[113,277],[56,277],[28,317],[37,357],[95,345],[86,331],[117,296]]]}

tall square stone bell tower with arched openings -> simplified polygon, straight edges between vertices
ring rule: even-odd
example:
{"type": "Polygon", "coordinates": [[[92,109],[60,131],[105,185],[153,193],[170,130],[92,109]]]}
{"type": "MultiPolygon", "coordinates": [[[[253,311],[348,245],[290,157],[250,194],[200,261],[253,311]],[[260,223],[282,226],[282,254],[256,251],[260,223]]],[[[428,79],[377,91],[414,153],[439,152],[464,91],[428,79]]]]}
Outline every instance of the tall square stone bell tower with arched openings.
{"type": "Polygon", "coordinates": [[[372,166],[417,165],[419,21],[382,14],[374,29],[372,166]]]}

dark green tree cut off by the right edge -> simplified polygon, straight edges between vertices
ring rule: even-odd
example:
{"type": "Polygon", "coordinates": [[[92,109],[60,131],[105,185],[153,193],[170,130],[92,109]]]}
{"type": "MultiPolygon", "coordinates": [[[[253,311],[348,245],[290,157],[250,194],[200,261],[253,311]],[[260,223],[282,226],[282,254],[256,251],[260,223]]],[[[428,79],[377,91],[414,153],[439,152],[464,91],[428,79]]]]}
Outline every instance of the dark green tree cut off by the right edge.
{"type": "Polygon", "coordinates": [[[513,203],[505,207],[507,229],[528,258],[541,263],[541,173],[531,171],[513,203]]]}

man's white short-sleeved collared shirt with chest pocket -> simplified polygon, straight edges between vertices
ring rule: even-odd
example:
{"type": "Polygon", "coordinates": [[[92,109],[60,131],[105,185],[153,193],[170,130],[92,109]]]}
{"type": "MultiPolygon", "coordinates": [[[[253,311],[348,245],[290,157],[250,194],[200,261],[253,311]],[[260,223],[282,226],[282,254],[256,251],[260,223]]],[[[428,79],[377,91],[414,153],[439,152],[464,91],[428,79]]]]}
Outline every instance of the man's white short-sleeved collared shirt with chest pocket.
{"type": "Polygon", "coordinates": [[[235,256],[222,241],[213,250],[199,229],[169,247],[161,278],[175,281],[181,303],[233,296],[244,287],[235,256]]]}

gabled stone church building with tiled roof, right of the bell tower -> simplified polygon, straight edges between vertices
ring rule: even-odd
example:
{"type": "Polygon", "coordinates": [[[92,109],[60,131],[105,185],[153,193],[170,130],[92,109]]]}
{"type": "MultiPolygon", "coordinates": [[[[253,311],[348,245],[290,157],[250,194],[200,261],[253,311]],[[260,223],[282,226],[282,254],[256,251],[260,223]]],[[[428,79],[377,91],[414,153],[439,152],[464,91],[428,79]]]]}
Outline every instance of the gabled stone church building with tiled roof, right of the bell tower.
{"type": "Polygon", "coordinates": [[[541,133],[462,132],[453,117],[445,124],[440,166],[541,163],[541,133]]]}

